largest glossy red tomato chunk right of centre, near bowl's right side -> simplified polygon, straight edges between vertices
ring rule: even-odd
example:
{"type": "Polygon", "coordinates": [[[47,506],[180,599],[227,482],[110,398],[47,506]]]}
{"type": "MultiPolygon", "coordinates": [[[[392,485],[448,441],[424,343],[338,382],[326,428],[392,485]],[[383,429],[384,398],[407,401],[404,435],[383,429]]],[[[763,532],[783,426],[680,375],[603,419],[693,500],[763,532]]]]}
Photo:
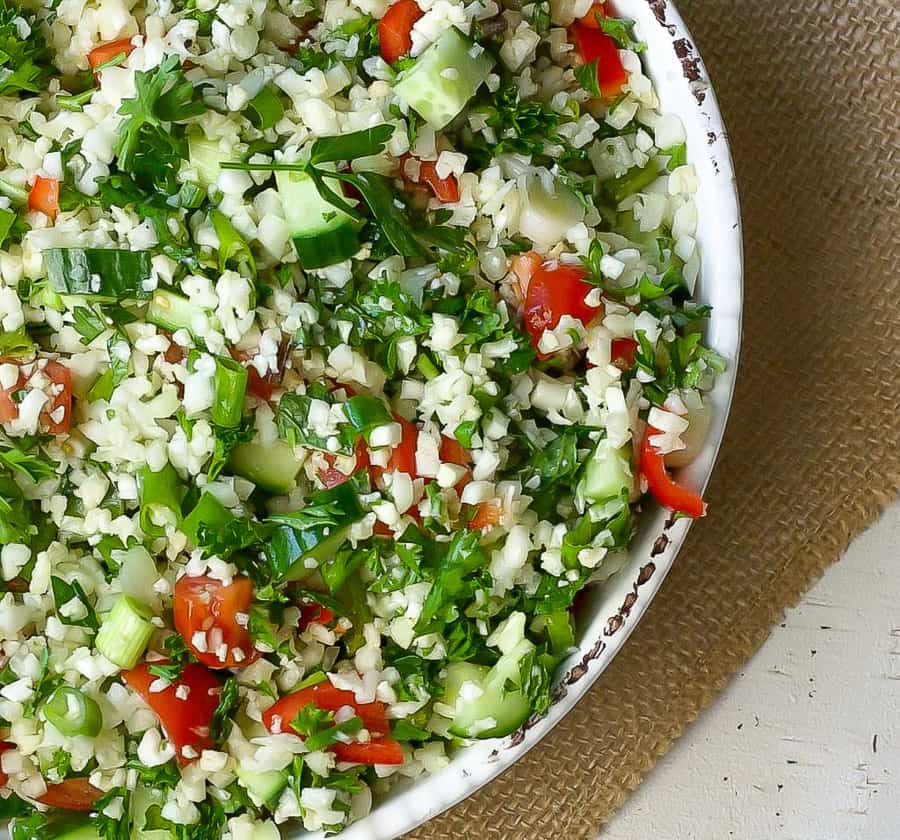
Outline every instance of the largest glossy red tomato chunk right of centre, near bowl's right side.
{"type": "MultiPolygon", "coordinates": [[[[588,306],[584,299],[593,289],[585,281],[587,272],[576,265],[544,263],[531,277],[525,296],[525,329],[531,335],[531,343],[537,349],[545,330],[554,329],[563,315],[571,315],[583,324],[589,324],[600,309],[588,306]]],[[[538,351],[538,356],[547,354],[538,351]]]]}

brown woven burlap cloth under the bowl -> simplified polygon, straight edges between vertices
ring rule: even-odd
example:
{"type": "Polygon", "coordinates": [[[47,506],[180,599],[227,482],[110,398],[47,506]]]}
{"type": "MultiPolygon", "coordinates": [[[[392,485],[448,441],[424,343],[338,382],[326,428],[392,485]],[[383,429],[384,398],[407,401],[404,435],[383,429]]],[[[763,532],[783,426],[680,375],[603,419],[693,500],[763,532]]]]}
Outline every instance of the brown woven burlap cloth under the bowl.
{"type": "Polygon", "coordinates": [[[729,128],[745,225],[743,358],[711,513],[574,711],[409,840],[596,835],[900,491],[900,7],[678,5],[729,128]]]}

